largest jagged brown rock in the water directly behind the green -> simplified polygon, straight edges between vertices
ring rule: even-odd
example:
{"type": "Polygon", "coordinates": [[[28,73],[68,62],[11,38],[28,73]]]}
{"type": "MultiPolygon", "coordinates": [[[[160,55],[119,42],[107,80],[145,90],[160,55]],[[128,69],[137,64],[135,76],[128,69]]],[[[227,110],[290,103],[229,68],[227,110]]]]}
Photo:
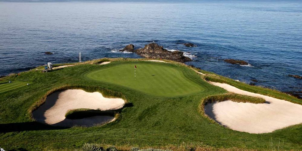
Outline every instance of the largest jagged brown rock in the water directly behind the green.
{"type": "Polygon", "coordinates": [[[191,58],[184,56],[184,52],[168,51],[164,49],[162,46],[159,46],[157,43],[149,43],[145,45],[144,48],[134,50],[134,52],[145,58],[168,59],[181,63],[192,61],[191,58]]]}

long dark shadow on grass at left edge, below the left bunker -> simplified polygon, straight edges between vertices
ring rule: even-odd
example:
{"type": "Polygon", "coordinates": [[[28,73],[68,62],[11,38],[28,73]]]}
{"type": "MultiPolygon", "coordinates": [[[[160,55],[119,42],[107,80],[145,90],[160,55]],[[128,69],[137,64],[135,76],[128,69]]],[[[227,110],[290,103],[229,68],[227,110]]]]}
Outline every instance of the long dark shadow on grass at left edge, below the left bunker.
{"type": "Polygon", "coordinates": [[[62,129],[66,129],[66,128],[53,127],[38,122],[0,124],[0,133],[21,132],[21,131],[30,131],[30,130],[62,130],[62,129]]]}

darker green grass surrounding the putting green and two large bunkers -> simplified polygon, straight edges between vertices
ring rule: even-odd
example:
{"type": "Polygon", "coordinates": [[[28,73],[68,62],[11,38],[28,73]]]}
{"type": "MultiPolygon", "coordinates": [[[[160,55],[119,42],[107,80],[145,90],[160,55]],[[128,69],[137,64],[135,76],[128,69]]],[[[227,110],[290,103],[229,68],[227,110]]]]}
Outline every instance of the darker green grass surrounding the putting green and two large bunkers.
{"type": "MultiPolygon", "coordinates": [[[[1,133],[0,146],[7,150],[19,147],[32,150],[44,149],[47,146],[77,148],[84,143],[139,146],[177,146],[193,143],[214,147],[268,149],[271,140],[274,146],[280,140],[281,149],[302,149],[301,124],[265,134],[242,133],[211,124],[212,122],[198,111],[199,105],[201,100],[209,95],[225,93],[221,88],[204,84],[205,91],[202,93],[162,98],[118,85],[91,81],[83,76],[85,72],[109,65],[83,64],[49,73],[24,72],[12,78],[11,80],[35,83],[0,94],[0,128],[26,127],[27,122],[31,121],[27,113],[28,108],[49,90],[66,84],[100,86],[123,93],[133,106],[124,108],[118,120],[101,127],[74,127],[63,130],[35,127],[37,130],[1,133]]],[[[182,66],[179,68],[184,69],[182,66]]],[[[204,82],[198,74],[189,69],[184,70],[191,80],[204,82]]]]}

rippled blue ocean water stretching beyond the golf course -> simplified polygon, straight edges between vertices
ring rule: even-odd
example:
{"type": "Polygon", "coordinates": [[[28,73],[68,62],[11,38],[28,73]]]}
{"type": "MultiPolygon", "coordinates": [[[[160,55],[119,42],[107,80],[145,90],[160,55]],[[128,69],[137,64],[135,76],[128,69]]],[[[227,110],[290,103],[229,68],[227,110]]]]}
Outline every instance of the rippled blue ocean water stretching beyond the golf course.
{"type": "Polygon", "coordinates": [[[302,76],[301,1],[0,1],[0,75],[77,62],[79,52],[83,61],[140,58],[116,50],[150,42],[184,51],[193,59],[188,65],[222,76],[302,90],[302,80],[288,76],[302,76]]]}

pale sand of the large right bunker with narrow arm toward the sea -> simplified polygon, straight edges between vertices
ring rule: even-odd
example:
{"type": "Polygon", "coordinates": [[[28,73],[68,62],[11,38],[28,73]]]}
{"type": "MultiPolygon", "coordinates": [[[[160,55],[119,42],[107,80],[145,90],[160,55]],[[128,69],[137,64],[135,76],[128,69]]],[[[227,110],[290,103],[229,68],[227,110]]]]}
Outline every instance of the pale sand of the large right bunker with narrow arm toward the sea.
{"type": "Polygon", "coordinates": [[[240,90],[224,83],[210,82],[229,92],[265,99],[264,104],[222,101],[209,103],[205,113],[218,123],[248,133],[269,133],[302,123],[302,105],[240,90]]]}

